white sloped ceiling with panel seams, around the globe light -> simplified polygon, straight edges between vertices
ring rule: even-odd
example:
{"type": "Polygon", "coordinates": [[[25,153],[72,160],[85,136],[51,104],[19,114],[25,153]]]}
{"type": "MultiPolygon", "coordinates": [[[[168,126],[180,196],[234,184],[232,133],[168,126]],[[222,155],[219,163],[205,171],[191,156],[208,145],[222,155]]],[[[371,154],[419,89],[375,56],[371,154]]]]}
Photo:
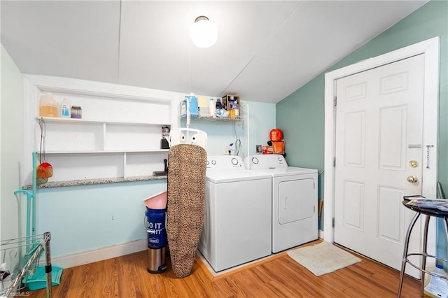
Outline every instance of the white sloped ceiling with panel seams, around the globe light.
{"type": "Polygon", "coordinates": [[[275,103],[426,1],[5,1],[22,73],[275,103]],[[196,48],[195,18],[218,27],[196,48]]]}

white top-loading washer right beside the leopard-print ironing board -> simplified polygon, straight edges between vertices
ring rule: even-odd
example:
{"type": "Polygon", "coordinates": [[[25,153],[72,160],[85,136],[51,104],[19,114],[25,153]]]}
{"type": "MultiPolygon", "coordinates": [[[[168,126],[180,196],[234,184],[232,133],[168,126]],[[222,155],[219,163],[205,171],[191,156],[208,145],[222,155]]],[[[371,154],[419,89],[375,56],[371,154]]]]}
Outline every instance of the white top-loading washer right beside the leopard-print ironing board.
{"type": "Polygon", "coordinates": [[[206,217],[199,250],[222,271],[271,254],[270,176],[241,157],[207,157],[206,217]]]}

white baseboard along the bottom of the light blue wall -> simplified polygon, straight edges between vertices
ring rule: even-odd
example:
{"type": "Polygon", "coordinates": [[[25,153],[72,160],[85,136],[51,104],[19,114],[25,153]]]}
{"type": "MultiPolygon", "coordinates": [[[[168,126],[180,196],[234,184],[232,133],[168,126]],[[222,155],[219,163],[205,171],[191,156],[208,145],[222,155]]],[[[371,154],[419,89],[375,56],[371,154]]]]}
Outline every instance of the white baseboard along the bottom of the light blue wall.
{"type": "MultiPolygon", "coordinates": [[[[73,255],[64,255],[61,257],[52,257],[51,263],[53,266],[70,268],[83,264],[89,264],[102,260],[111,259],[113,257],[120,257],[122,255],[129,255],[146,250],[148,247],[147,239],[139,239],[127,243],[118,244],[116,246],[107,246],[98,248],[97,250],[89,250],[82,253],[73,253],[73,255]]],[[[41,257],[41,262],[45,262],[45,257],[41,257]],[[43,259],[43,260],[42,260],[43,259]]]]}

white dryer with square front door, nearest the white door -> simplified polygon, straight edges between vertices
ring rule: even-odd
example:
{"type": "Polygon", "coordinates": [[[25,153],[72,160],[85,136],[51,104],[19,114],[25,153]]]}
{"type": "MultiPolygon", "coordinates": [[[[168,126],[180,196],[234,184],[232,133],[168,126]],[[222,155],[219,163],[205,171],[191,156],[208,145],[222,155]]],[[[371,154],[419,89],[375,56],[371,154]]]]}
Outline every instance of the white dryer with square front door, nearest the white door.
{"type": "Polygon", "coordinates": [[[272,253],[318,239],[317,170],[288,166],[282,155],[244,159],[272,176],[272,253]]]}

